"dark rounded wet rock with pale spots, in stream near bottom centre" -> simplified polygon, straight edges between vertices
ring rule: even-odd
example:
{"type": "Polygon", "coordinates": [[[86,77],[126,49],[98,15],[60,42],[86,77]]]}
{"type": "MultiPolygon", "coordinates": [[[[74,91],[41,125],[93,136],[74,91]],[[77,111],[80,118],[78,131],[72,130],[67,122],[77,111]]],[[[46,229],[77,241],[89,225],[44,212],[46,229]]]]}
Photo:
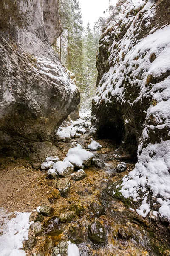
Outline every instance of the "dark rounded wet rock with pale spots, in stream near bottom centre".
{"type": "Polygon", "coordinates": [[[94,221],[88,226],[88,237],[94,244],[105,244],[106,233],[101,222],[94,221]]]}

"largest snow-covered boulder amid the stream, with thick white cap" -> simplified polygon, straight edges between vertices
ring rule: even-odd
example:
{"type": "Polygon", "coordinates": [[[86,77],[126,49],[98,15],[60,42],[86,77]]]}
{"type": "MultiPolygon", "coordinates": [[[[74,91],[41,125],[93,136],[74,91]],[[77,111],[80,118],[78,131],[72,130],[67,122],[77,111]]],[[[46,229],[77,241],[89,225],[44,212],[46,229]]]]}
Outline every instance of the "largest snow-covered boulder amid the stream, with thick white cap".
{"type": "Polygon", "coordinates": [[[75,167],[81,169],[83,165],[90,166],[93,157],[93,153],[82,149],[81,145],[78,144],[77,147],[69,149],[63,161],[70,161],[75,167]]]}

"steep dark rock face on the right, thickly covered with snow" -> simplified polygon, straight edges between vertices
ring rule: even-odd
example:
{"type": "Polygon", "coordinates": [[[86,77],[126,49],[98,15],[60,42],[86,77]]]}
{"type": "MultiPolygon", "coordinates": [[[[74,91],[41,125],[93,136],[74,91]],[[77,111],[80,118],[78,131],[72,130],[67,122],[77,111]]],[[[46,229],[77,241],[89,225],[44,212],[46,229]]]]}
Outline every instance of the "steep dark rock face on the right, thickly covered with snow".
{"type": "Polygon", "coordinates": [[[91,131],[137,154],[120,191],[142,200],[144,216],[150,188],[170,221],[170,3],[128,0],[122,9],[119,25],[111,21],[100,40],[91,131]]]}

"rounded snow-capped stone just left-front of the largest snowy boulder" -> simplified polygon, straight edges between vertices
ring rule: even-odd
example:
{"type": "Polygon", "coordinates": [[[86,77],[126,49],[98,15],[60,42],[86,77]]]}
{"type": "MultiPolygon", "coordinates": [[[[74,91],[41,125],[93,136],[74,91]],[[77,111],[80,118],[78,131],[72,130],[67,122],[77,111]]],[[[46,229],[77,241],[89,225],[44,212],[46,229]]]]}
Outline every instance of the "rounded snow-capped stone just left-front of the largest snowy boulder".
{"type": "Polygon", "coordinates": [[[74,166],[69,161],[58,161],[54,163],[53,169],[62,177],[69,177],[74,171],[74,166]]]}

